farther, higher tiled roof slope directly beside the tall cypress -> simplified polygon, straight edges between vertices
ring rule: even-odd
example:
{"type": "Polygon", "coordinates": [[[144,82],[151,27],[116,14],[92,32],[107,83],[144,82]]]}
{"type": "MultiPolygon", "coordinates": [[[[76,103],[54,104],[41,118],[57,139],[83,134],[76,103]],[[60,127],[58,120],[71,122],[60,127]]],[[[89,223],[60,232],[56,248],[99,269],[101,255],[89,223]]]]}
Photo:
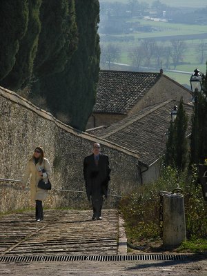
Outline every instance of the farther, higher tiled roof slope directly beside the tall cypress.
{"type": "Polygon", "coordinates": [[[94,112],[126,114],[160,77],[155,72],[101,70],[94,112]]]}

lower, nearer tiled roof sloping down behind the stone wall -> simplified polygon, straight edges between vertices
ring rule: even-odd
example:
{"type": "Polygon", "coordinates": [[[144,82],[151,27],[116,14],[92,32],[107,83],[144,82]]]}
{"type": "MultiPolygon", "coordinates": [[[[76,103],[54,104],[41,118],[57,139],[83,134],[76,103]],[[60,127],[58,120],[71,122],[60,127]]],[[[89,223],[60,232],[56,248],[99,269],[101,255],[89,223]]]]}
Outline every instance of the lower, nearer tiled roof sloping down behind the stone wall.
{"type": "MultiPolygon", "coordinates": [[[[168,100],[145,108],[136,115],[127,117],[108,128],[102,128],[102,131],[99,129],[97,136],[137,152],[139,160],[150,166],[164,154],[165,133],[170,126],[170,110],[175,105],[178,106],[179,101],[168,100]]],[[[188,135],[193,106],[184,104],[184,108],[188,115],[188,135]]]]}

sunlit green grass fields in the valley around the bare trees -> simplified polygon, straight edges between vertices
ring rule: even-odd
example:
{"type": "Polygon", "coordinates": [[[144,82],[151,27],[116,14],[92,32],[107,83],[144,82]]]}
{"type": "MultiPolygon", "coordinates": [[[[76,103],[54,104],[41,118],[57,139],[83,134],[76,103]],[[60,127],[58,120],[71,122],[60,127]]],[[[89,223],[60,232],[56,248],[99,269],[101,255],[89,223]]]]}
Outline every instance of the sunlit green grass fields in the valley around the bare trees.
{"type": "MultiPolygon", "coordinates": [[[[130,59],[128,58],[128,54],[130,51],[132,51],[132,48],[135,46],[139,46],[140,40],[145,38],[155,38],[160,39],[160,41],[157,41],[157,44],[162,45],[168,45],[170,44],[170,37],[174,37],[177,35],[180,35],[178,38],[179,40],[184,39],[184,35],[189,35],[190,39],[185,40],[187,45],[187,50],[184,52],[183,55],[183,62],[185,64],[178,65],[176,67],[176,70],[182,70],[186,72],[193,72],[195,68],[199,68],[201,72],[206,72],[206,60],[207,60],[207,49],[206,49],[206,57],[204,64],[200,64],[198,60],[198,47],[201,43],[201,39],[195,39],[196,34],[206,34],[207,28],[206,26],[197,26],[197,25],[187,25],[187,24],[178,24],[178,23],[166,23],[166,22],[157,22],[157,21],[146,21],[144,19],[132,19],[133,21],[139,21],[141,23],[141,26],[143,25],[150,25],[152,27],[159,28],[159,32],[132,32],[130,34],[119,34],[119,35],[113,35],[113,37],[121,38],[121,37],[134,37],[134,41],[129,42],[118,42],[113,41],[110,43],[115,44],[116,46],[119,46],[120,49],[120,59],[119,63],[126,63],[130,64],[130,59]],[[161,41],[161,39],[164,39],[168,37],[169,41],[161,41]]],[[[207,44],[207,35],[206,35],[206,44],[207,44]]],[[[104,43],[107,44],[107,43],[104,43]]],[[[162,61],[164,64],[164,61],[162,61]]],[[[155,67],[155,63],[150,64],[151,67],[155,67]]],[[[164,66],[163,66],[164,68],[164,66]]],[[[174,69],[174,66],[170,66],[169,69],[174,69]]],[[[127,69],[126,69],[127,70],[127,69]]],[[[164,68],[165,71],[165,68],[164,68]]],[[[175,73],[175,72],[164,72],[164,74],[168,75],[168,77],[175,79],[178,83],[184,84],[189,83],[190,75],[181,74],[181,73],[175,73]]]]}

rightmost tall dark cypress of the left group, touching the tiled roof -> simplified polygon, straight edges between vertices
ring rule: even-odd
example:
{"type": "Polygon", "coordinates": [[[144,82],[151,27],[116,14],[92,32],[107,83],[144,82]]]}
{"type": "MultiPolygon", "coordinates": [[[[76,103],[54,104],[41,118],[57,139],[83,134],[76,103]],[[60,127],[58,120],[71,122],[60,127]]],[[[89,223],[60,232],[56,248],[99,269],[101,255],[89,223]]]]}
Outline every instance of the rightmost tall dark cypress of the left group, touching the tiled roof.
{"type": "Polygon", "coordinates": [[[75,10],[78,48],[63,72],[41,81],[40,90],[48,99],[51,112],[64,112],[71,126],[83,130],[95,104],[99,78],[99,1],[75,0],[75,10]]]}

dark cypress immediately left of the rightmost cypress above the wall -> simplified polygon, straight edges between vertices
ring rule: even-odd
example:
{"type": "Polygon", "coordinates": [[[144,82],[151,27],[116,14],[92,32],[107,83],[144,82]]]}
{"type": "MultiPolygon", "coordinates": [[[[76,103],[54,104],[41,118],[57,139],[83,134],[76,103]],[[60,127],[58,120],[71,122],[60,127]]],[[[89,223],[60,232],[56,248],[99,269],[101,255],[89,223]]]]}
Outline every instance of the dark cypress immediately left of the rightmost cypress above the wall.
{"type": "Polygon", "coordinates": [[[77,47],[74,0],[43,0],[41,33],[34,64],[37,79],[64,70],[77,47]]]}

